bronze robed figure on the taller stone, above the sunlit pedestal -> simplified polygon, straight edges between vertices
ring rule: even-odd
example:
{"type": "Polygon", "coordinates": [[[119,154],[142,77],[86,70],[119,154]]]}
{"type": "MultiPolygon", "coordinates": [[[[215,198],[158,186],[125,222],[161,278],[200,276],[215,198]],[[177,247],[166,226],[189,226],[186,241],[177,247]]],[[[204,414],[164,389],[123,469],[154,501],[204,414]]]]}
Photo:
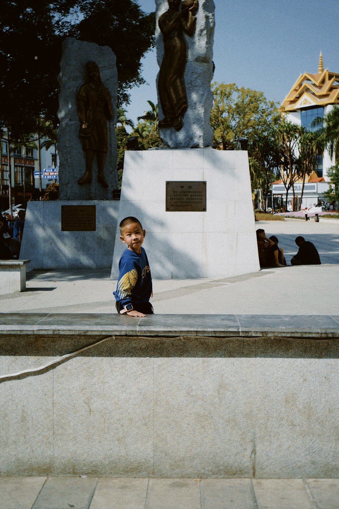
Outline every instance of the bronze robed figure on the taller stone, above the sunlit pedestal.
{"type": "Polygon", "coordinates": [[[161,64],[158,91],[164,118],[159,127],[172,127],[180,131],[187,95],[183,74],[186,66],[186,42],[183,32],[192,36],[195,31],[197,0],[168,0],[169,9],[160,16],[159,27],[164,39],[164,58],[161,64]]]}

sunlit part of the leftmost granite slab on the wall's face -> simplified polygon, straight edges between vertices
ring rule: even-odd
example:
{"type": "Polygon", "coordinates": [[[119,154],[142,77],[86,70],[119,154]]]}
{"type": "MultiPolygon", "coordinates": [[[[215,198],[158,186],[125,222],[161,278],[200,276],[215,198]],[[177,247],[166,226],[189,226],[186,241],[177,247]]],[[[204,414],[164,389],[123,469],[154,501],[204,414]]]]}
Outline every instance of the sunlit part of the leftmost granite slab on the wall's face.
{"type": "MultiPolygon", "coordinates": [[[[48,360],[43,356],[2,355],[0,374],[38,367],[48,360]]],[[[0,475],[53,473],[52,394],[53,372],[0,384],[0,475]]]]}

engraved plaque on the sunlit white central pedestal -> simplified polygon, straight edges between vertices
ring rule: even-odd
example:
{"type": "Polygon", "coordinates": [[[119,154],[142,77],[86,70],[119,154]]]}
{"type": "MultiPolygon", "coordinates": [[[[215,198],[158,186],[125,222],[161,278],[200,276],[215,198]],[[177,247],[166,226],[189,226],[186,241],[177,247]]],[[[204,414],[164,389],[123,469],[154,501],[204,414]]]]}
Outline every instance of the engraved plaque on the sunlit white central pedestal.
{"type": "Polygon", "coordinates": [[[206,182],[167,181],[166,211],[206,212],[206,182]]]}

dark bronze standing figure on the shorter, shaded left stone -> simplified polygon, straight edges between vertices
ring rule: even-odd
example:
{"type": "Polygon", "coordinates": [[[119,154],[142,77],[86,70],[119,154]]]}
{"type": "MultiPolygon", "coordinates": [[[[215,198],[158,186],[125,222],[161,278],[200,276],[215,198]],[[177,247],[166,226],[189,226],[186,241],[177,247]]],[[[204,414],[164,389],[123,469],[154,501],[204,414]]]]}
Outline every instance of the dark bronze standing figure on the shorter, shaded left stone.
{"type": "Polygon", "coordinates": [[[95,62],[87,62],[85,81],[76,99],[80,121],[79,136],[82,150],[86,154],[86,171],[78,180],[78,184],[90,184],[96,153],[98,182],[103,187],[108,187],[104,177],[104,164],[107,153],[107,121],[113,118],[113,110],[110,93],[101,81],[99,67],[95,62]]]}

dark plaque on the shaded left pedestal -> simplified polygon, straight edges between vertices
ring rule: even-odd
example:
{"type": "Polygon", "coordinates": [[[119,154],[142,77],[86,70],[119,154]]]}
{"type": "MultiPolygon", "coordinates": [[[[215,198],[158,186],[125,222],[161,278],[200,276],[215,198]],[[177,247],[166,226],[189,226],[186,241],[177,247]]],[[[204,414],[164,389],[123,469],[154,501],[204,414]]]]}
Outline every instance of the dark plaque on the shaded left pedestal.
{"type": "Polygon", "coordinates": [[[61,232],[95,231],[95,205],[61,205],[61,232]]]}

